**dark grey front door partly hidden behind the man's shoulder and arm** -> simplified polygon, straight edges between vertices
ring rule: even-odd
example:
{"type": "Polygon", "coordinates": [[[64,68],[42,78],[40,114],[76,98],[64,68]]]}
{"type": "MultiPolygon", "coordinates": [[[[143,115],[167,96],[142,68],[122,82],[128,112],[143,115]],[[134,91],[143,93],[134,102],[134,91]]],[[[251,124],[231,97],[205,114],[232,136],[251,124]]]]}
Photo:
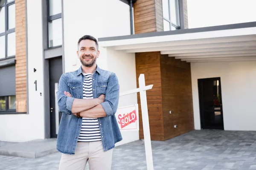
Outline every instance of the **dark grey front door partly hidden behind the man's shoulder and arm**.
{"type": "Polygon", "coordinates": [[[56,91],[62,74],[62,57],[49,59],[49,91],[50,91],[50,131],[51,138],[56,138],[61,113],[58,112],[56,91]]]}

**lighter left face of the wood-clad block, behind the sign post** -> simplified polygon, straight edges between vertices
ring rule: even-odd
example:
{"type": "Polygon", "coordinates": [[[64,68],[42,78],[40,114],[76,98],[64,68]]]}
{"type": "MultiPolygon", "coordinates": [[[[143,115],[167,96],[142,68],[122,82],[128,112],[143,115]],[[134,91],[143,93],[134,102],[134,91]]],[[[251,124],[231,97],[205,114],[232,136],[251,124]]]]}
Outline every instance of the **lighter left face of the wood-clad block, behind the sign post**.
{"type": "MultiPolygon", "coordinates": [[[[145,84],[154,84],[153,88],[147,91],[148,117],[151,133],[151,140],[163,140],[163,106],[161,95],[161,74],[160,74],[160,52],[136,53],[136,76],[145,75],[145,84]]],[[[137,81],[137,87],[139,82],[137,81]]],[[[140,109],[140,94],[138,93],[139,117],[140,117],[140,139],[143,139],[143,124],[140,109]]]]}

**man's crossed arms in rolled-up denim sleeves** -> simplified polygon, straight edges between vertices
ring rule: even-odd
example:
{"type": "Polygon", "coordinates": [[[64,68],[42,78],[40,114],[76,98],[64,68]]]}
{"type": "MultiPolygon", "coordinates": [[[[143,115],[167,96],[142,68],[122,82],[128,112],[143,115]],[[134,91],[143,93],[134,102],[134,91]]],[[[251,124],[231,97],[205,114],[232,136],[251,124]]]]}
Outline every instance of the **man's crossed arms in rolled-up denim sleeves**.
{"type": "Polygon", "coordinates": [[[112,116],[116,113],[119,101],[119,84],[115,74],[108,79],[106,95],[95,99],[76,99],[71,96],[67,77],[61,75],[58,91],[58,108],[61,113],[73,114],[80,112],[81,117],[99,118],[112,116]]]}

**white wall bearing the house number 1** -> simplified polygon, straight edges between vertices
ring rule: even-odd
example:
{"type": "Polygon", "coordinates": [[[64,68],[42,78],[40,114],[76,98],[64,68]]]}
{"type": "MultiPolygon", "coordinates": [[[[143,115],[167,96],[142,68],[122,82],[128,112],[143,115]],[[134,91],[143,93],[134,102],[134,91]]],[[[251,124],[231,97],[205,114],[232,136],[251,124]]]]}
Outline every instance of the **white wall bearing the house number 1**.
{"type": "Polygon", "coordinates": [[[27,0],[29,114],[1,115],[0,141],[24,142],[44,139],[42,6],[27,0]],[[36,72],[33,72],[36,68],[36,72]],[[37,80],[37,91],[35,91],[37,80]],[[40,96],[42,93],[42,96],[40,96]]]}

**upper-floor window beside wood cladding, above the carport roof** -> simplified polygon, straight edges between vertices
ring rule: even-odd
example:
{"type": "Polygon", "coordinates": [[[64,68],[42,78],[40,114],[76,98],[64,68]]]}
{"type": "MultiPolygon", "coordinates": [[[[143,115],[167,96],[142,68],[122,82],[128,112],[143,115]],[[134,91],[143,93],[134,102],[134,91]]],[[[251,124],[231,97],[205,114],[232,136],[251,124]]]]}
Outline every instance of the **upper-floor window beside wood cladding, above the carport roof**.
{"type": "Polygon", "coordinates": [[[162,0],[163,31],[180,29],[179,0],[162,0]]]}

